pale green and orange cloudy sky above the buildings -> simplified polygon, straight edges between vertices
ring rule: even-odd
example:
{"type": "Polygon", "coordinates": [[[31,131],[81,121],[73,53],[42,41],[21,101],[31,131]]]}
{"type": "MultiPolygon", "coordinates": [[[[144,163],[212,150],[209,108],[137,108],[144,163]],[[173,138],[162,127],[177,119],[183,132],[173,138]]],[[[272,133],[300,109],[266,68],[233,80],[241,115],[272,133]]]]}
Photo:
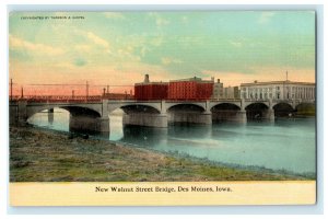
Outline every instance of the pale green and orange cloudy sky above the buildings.
{"type": "Polygon", "coordinates": [[[132,85],[148,73],[229,87],[285,80],[285,71],[315,82],[313,11],[12,12],[9,22],[17,84],[132,85]]]}

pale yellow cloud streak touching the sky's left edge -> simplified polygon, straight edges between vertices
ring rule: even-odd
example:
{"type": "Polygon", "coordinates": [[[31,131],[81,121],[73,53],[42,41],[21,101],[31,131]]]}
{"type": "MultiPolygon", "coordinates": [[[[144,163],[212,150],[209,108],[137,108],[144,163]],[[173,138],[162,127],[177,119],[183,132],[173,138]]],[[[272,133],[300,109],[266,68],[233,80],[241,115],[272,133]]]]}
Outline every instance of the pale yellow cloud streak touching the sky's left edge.
{"type": "Polygon", "coordinates": [[[65,50],[62,48],[52,47],[45,44],[34,44],[13,35],[9,35],[9,47],[10,49],[22,49],[31,51],[33,54],[42,54],[48,56],[59,56],[65,54],[65,50]]]}

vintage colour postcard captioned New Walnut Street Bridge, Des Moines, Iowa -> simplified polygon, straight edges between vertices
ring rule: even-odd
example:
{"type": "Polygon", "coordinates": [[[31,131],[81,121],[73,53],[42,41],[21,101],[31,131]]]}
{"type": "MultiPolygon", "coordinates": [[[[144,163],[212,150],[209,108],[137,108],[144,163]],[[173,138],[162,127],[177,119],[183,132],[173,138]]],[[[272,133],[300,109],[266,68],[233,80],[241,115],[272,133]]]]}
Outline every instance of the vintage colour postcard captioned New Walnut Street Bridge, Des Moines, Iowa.
{"type": "Polygon", "coordinates": [[[11,206],[316,204],[315,21],[12,11],[11,206]]]}

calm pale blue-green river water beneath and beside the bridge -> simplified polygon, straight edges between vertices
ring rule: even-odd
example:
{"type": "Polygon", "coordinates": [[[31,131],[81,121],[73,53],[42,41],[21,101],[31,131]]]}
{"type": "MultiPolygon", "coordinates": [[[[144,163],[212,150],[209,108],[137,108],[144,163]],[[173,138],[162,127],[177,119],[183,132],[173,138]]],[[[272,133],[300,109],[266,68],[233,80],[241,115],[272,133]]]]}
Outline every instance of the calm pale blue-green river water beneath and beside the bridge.
{"type": "MultiPolygon", "coordinates": [[[[258,166],[298,174],[316,172],[315,118],[277,119],[274,123],[169,125],[168,128],[122,126],[119,113],[110,114],[109,140],[130,147],[181,153],[210,161],[258,166]]],[[[55,108],[37,113],[30,124],[69,131],[69,113],[55,108]]]]}

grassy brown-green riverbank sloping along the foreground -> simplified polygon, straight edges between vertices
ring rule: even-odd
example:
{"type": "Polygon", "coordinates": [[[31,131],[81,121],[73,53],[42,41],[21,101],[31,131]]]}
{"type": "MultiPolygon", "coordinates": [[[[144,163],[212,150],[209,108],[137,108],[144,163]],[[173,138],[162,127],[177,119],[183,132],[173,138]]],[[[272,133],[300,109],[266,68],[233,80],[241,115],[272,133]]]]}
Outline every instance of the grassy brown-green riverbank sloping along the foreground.
{"type": "Polygon", "coordinates": [[[202,162],[34,127],[10,128],[11,182],[281,181],[304,176],[202,162]]]}

